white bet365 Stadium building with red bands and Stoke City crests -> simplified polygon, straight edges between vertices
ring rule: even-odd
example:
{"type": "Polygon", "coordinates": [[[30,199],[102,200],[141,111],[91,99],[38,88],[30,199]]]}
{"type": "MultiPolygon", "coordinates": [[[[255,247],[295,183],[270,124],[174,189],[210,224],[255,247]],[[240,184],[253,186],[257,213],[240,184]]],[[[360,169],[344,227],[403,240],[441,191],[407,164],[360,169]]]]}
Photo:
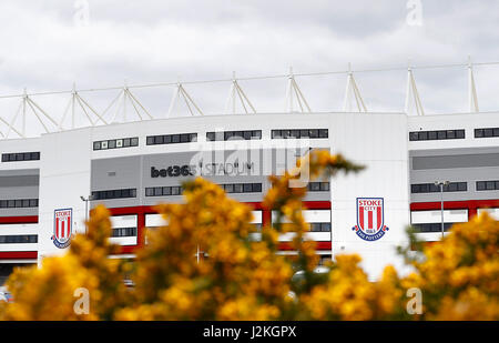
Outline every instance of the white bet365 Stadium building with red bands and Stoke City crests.
{"type": "MultiPolygon", "coordinates": [[[[376,278],[388,263],[403,265],[396,248],[407,244],[410,224],[421,240],[434,242],[447,234],[441,215],[445,231],[481,211],[499,218],[499,112],[424,115],[410,70],[416,115],[366,111],[352,73],[348,93],[358,111],[313,112],[291,77],[288,95],[304,113],[147,119],[0,139],[3,276],[13,266],[63,253],[99,203],[111,210],[120,256],[133,258],[146,244],[145,228],[162,224],[154,204],[182,202],[182,182],[196,175],[251,205],[261,230],[273,220],[262,206],[268,175],[309,149],[367,167],[307,184],[307,238],[317,242],[323,261],[358,253],[376,278]]],[[[252,109],[237,82],[233,94],[252,109]]],[[[201,112],[181,84],[176,95],[201,112]]],[[[281,236],[281,253],[294,253],[291,239],[281,236]]]]}

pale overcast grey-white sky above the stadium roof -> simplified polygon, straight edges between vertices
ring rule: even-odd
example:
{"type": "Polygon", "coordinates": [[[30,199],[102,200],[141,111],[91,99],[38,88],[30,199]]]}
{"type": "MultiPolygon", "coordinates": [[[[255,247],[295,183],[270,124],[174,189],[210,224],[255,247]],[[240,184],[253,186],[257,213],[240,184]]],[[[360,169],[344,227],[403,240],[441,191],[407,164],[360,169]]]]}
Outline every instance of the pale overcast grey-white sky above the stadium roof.
{"type": "MultiPolygon", "coordinates": [[[[149,82],[499,61],[499,1],[2,0],[0,95],[149,82]],[[420,3],[420,7],[418,6],[420,3]],[[414,7],[416,6],[416,8],[414,7]]],[[[403,111],[407,72],[359,72],[370,111],[403,111]]],[[[415,70],[426,113],[466,112],[467,69],[415,70]]],[[[499,65],[476,67],[480,110],[499,109],[499,65]]],[[[345,74],[296,78],[313,111],[339,111],[345,74]]],[[[241,81],[259,112],[283,111],[286,79],[241,81]]],[[[230,83],[186,84],[206,114],[230,83]]],[[[172,87],[132,90],[164,117],[172,87]]],[[[98,111],[118,91],[82,93],[98,111]]],[[[68,94],[33,97],[61,118],[68,94]]],[[[10,120],[19,99],[0,99],[10,120]]],[[[175,115],[189,115],[182,107],[175,115]]],[[[112,115],[111,115],[112,117],[112,115]]],[[[130,114],[130,117],[132,117],[130,114]]],[[[0,123],[0,131],[6,127],[0,123]]]]}

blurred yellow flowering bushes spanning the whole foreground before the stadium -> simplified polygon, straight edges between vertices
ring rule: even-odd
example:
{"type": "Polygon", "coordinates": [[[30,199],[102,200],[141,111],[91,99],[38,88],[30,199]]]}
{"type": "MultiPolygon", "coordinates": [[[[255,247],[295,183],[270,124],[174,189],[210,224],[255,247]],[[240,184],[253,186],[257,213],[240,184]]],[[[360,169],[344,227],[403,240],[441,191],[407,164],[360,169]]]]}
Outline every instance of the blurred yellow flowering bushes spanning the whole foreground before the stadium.
{"type": "Polygon", "coordinates": [[[499,320],[499,223],[486,213],[455,225],[419,259],[407,254],[409,275],[388,265],[370,282],[357,255],[337,255],[326,273],[315,272],[315,243],[305,240],[306,190],[293,182],[359,170],[342,155],[312,151],[295,170],[271,176],[263,205],[277,221],[261,232],[249,206],[201,178],[186,182],[184,203],[156,206],[166,224],[147,230],[133,261],[109,258],[119,246],[109,243],[109,211],[98,206],[65,255],[14,271],[7,283],[14,302],[0,303],[0,319],[499,320]],[[294,232],[296,255],[277,254],[285,232],[294,232]],[[74,311],[81,287],[89,290],[89,314],[74,311]],[[422,294],[420,314],[406,310],[410,289],[422,294]]]}

